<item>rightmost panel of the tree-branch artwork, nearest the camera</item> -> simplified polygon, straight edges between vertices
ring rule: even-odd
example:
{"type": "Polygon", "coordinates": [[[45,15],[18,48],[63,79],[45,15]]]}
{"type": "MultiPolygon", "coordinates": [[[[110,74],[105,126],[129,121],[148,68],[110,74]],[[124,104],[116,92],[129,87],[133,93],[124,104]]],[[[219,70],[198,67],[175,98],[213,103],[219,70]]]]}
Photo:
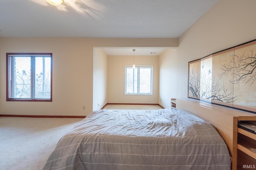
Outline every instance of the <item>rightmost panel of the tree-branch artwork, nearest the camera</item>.
{"type": "MultiPolygon", "coordinates": [[[[228,66],[227,66],[228,67],[228,66]]],[[[256,112],[256,41],[235,47],[233,70],[234,107],[256,112]]]]}

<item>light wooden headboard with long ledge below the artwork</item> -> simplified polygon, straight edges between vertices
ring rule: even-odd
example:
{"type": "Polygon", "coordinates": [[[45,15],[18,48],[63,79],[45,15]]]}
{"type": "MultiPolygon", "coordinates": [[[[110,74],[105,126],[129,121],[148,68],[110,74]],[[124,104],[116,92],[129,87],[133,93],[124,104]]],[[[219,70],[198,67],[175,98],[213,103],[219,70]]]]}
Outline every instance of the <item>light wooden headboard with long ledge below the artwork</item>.
{"type": "Polygon", "coordinates": [[[232,159],[232,170],[236,170],[238,120],[254,120],[256,119],[256,114],[218,106],[191,98],[177,98],[176,108],[182,109],[208,121],[218,130],[228,146],[232,159]]]}

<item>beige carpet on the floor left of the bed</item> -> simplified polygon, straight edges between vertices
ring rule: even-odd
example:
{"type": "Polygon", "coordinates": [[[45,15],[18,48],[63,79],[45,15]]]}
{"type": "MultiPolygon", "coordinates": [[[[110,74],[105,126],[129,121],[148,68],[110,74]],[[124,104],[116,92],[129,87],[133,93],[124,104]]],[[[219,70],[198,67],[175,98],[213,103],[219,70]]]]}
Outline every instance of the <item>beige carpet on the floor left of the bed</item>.
{"type": "Polygon", "coordinates": [[[0,117],[0,170],[41,170],[79,118],[0,117]]]}

